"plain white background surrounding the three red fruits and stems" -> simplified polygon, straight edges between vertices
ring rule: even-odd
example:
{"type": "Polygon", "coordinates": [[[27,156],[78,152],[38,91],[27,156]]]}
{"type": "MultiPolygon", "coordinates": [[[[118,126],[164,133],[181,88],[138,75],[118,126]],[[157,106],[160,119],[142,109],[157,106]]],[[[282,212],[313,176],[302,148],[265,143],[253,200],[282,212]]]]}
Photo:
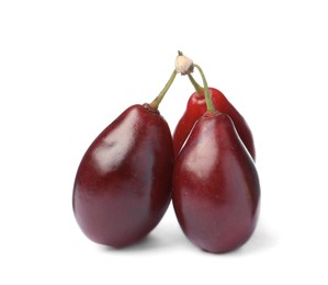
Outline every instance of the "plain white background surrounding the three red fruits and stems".
{"type": "MultiPolygon", "coordinates": [[[[324,0],[1,1],[0,283],[327,284],[327,14],[324,0]],[[178,49],[252,128],[258,228],[210,254],[170,206],[138,244],[95,244],[71,209],[77,167],[121,112],[158,94],[178,49]]],[[[192,92],[178,76],[160,105],[172,129],[192,92]]]]}

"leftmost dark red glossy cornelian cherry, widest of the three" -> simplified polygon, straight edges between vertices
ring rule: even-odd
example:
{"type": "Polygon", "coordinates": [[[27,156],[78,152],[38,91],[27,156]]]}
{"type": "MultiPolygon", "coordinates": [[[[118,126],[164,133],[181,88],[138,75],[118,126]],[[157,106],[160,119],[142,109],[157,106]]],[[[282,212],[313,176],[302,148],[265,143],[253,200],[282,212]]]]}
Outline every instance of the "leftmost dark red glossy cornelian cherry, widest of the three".
{"type": "Polygon", "coordinates": [[[171,198],[172,138],[149,105],[133,105],[92,142],[73,186],[73,213],[94,242],[128,246],[162,218],[171,198]]]}

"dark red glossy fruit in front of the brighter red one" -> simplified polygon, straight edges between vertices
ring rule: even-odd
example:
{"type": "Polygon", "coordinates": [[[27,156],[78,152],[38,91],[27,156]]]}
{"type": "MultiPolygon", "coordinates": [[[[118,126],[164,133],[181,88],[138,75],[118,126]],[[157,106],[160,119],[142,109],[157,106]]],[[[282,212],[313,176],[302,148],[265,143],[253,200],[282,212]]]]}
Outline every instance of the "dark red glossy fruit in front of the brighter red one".
{"type": "Polygon", "coordinates": [[[227,252],[249,239],[260,184],[229,116],[203,116],[195,124],[174,164],[172,201],[183,232],[201,249],[227,252]]]}

